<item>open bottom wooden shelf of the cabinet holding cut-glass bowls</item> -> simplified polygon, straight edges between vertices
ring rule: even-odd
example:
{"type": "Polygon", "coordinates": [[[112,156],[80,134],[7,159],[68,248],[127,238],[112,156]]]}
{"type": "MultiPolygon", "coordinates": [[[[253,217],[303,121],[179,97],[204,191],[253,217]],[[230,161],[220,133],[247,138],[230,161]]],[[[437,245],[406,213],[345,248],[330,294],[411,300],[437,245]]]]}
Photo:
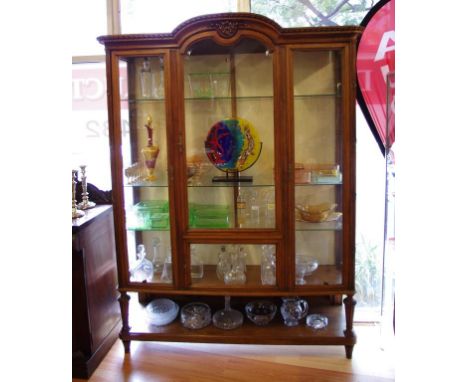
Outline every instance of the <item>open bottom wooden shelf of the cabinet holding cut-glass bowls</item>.
{"type": "MultiPolygon", "coordinates": [[[[328,317],[328,326],[325,329],[314,330],[305,324],[305,318],[298,326],[288,327],[284,325],[281,313],[281,299],[268,298],[277,305],[275,318],[267,326],[257,326],[253,324],[245,314],[245,304],[255,300],[252,297],[233,297],[231,307],[242,312],[244,323],[240,328],[234,330],[223,330],[216,328],[213,324],[198,329],[191,330],[180,323],[180,313],[175,321],[165,326],[150,325],[146,319],[145,305],[140,304],[136,293],[129,293],[129,325],[130,331],[122,333],[124,341],[170,341],[170,342],[209,342],[209,343],[233,343],[233,344],[276,344],[276,345],[354,345],[356,337],[354,335],[345,336],[346,320],[345,309],[342,304],[331,305],[326,296],[307,298],[309,311],[319,313],[328,317]]],[[[159,296],[158,296],[159,297],[159,296]]],[[[158,298],[153,297],[153,298],[158,298]]],[[[212,314],[223,308],[222,297],[203,296],[174,296],[170,297],[182,308],[188,302],[201,301],[207,303],[212,314]]],[[[258,299],[261,299],[260,297],[258,299]]],[[[151,301],[151,298],[148,300],[151,301]]]]}

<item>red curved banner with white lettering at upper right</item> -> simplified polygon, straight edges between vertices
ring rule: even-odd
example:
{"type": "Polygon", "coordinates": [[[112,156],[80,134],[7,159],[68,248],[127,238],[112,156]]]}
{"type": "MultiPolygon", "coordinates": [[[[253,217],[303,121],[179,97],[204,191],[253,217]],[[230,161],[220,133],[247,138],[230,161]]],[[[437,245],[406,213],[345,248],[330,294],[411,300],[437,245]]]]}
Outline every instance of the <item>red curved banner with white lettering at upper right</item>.
{"type": "Polygon", "coordinates": [[[395,0],[380,5],[363,21],[356,67],[361,108],[380,146],[389,149],[395,141],[395,0]]]}

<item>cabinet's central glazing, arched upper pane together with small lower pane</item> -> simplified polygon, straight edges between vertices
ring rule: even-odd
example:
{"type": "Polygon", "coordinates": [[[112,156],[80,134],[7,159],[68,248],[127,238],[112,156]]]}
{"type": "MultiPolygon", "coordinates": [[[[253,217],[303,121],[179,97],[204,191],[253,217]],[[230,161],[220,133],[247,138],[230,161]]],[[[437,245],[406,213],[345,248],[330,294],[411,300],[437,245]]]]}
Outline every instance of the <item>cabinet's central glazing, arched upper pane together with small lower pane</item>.
{"type": "Polygon", "coordinates": [[[192,288],[277,285],[273,60],[248,38],[202,40],[183,56],[188,227],[204,238],[187,242],[192,288]],[[220,230],[237,241],[220,243],[220,230]]]}

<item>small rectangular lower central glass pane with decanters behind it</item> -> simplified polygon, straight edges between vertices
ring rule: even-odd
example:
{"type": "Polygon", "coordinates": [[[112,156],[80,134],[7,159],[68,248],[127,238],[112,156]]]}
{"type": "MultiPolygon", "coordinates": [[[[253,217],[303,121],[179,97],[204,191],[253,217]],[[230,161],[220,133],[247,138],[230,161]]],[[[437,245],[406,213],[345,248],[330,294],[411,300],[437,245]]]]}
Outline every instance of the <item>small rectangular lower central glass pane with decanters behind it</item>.
{"type": "Polygon", "coordinates": [[[276,286],[273,244],[191,244],[192,287],[276,286]]]}

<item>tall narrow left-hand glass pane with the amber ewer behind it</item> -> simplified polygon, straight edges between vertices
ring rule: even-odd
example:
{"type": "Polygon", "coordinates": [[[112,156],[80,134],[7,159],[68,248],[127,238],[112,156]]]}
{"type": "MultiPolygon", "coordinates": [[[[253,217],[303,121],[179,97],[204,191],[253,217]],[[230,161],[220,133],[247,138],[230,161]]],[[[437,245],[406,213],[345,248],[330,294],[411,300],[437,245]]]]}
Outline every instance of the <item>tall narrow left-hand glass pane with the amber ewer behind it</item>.
{"type": "Polygon", "coordinates": [[[119,64],[130,280],[172,283],[164,56],[119,64]]]}

